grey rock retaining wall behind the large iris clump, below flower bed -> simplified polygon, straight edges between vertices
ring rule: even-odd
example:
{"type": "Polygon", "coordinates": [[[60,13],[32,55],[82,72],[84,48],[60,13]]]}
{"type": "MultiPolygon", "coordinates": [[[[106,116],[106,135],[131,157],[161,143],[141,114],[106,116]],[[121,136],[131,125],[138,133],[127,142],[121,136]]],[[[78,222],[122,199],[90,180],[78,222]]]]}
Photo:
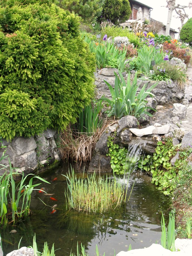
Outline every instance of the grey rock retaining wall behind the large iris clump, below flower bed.
{"type": "MultiPolygon", "coordinates": [[[[115,76],[114,72],[118,74],[118,70],[116,68],[103,68],[95,72],[95,85],[97,87],[97,99],[105,95],[105,97],[110,98],[111,93],[108,89],[107,84],[104,82],[107,81],[114,88],[115,86],[115,76]]],[[[134,74],[132,74],[134,76],[134,74]]],[[[127,77],[126,72],[123,73],[123,76],[127,77]]],[[[138,78],[139,90],[142,88],[144,84],[148,83],[148,87],[152,84],[157,83],[156,81],[141,81],[138,78]]],[[[148,88],[147,87],[147,88],[148,88]]],[[[155,94],[155,99],[157,104],[164,104],[172,99],[182,99],[184,96],[184,91],[180,91],[177,86],[177,82],[166,83],[166,81],[159,81],[154,90],[152,91],[155,94]]]]}

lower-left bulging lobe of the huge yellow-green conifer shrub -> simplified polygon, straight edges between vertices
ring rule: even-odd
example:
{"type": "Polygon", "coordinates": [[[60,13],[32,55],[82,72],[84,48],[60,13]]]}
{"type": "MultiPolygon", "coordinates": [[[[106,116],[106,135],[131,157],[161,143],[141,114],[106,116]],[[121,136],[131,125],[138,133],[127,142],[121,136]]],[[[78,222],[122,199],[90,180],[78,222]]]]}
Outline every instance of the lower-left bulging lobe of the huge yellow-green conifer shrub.
{"type": "Polygon", "coordinates": [[[0,95],[0,131],[6,140],[30,137],[50,124],[49,104],[41,97],[30,99],[28,93],[8,89],[0,95]]]}

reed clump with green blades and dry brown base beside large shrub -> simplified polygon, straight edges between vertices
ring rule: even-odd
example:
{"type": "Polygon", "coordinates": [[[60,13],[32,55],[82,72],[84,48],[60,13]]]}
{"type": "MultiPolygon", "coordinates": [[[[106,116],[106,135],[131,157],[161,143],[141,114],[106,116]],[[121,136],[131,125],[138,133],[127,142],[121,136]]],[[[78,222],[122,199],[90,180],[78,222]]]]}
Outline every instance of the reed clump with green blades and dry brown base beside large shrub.
{"type": "Polygon", "coordinates": [[[74,126],[69,125],[66,131],[60,134],[62,159],[79,162],[80,165],[91,161],[96,142],[108,125],[116,123],[114,120],[102,119],[101,101],[92,105],[82,110],[74,126]]]}

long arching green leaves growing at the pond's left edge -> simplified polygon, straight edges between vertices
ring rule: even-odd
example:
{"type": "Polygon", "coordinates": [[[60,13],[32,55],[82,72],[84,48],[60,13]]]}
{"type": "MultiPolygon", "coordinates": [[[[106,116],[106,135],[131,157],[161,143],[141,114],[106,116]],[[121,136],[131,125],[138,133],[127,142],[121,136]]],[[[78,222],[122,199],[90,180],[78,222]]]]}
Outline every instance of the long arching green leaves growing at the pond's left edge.
{"type": "Polygon", "coordinates": [[[49,183],[48,181],[28,174],[14,172],[9,160],[9,166],[0,164],[4,174],[0,176],[0,221],[6,225],[8,221],[15,222],[17,219],[26,217],[30,212],[31,193],[41,183],[33,184],[34,179],[49,183]],[[21,175],[21,180],[15,183],[14,175],[21,175]],[[32,178],[30,178],[32,176],[32,178]],[[28,181],[28,179],[30,180],[28,181]]]}

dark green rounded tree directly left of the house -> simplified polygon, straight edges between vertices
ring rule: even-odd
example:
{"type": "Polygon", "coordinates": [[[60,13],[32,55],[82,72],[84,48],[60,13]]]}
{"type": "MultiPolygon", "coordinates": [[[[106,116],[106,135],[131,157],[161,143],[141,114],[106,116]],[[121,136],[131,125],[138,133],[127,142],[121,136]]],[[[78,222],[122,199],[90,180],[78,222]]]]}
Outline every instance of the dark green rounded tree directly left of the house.
{"type": "Polygon", "coordinates": [[[105,0],[102,15],[114,24],[129,20],[131,7],[128,0],[105,0]]]}

